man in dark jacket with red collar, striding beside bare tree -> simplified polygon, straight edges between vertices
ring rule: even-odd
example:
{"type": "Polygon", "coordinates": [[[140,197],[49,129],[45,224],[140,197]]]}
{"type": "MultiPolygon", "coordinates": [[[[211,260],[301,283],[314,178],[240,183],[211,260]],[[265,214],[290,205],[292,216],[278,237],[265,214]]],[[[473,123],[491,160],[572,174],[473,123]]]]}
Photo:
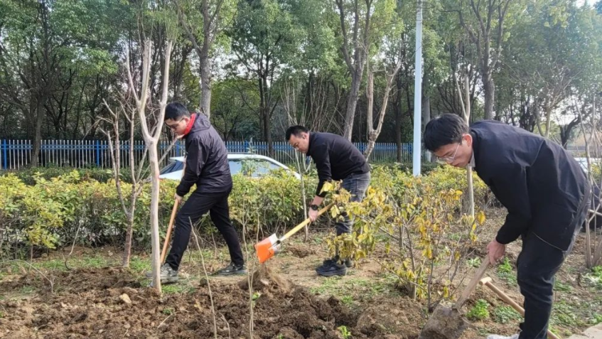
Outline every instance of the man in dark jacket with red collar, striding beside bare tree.
{"type": "Polygon", "coordinates": [[[178,280],[178,267],[190,240],[190,224],[194,225],[208,211],[230,250],[230,264],[216,274],[247,273],[238,235],[230,221],[228,195],[232,190],[232,176],[224,142],[205,114],[190,115],[186,106],[179,102],[167,105],[165,124],[177,136],[186,139],[186,167],[175,198],[181,202],[195,184],[196,190],[176,216],[171,249],[161,267],[161,281],[178,280]]]}

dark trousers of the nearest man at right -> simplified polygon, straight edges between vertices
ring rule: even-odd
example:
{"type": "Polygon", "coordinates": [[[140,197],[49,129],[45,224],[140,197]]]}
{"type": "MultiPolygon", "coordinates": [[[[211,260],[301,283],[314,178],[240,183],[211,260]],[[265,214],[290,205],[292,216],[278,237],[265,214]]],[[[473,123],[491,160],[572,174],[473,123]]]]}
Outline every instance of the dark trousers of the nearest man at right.
{"type": "Polygon", "coordinates": [[[554,297],[554,275],[571,252],[579,234],[579,226],[566,251],[544,242],[532,232],[523,238],[522,251],[517,259],[517,281],[520,293],[525,297],[525,321],[520,324],[519,339],[547,338],[554,297]]]}

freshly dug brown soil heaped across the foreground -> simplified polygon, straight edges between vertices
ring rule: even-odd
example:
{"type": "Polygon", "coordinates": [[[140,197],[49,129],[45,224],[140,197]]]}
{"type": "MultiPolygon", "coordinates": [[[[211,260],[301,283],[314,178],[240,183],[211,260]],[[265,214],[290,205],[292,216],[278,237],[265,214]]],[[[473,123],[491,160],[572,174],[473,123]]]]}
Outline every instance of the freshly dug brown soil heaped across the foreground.
{"type": "Polygon", "coordinates": [[[353,333],[353,338],[393,339],[416,338],[424,321],[411,302],[381,300],[360,313],[335,298],[310,294],[267,267],[250,278],[252,291],[249,277],[237,277],[237,284],[205,281],[190,286],[189,293],[160,298],[124,269],[61,272],[52,284],[39,274],[25,274],[0,284],[6,293],[38,289],[32,298],[0,301],[0,338],[249,338],[252,333],[252,338],[317,339],[353,333]]]}

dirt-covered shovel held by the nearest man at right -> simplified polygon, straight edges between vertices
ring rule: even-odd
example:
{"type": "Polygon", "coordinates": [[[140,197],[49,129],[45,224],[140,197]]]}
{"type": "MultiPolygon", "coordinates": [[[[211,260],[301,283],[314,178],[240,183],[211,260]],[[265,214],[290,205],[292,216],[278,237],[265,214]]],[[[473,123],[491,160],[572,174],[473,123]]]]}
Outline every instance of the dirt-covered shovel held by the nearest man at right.
{"type": "Polygon", "coordinates": [[[489,266],[489,256],[483,258],[483,262],[475,272],[473,279],[468,283],[466,289],[462,291],[460,298],[452,308],[437,306],[429,321],[426,321],[424,328],[419,335],[419,339],[457,339],[468,327],[463,316],[460,314],[460,308],[471,296],[483,274],[489,266]]]}

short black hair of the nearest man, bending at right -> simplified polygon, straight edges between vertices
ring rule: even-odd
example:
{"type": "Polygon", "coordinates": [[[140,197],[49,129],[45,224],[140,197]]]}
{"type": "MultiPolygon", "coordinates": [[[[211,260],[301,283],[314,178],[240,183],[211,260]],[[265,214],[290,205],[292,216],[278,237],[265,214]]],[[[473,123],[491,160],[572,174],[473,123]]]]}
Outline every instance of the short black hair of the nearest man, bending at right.
{"type": "Polygon", "coordinates": [[[432,119],[424,128],[424,147],[429,151],[437,151],[441,146],[456,144],[468,133],[468,125],[457,114],[441,114],[432,119]]]}

